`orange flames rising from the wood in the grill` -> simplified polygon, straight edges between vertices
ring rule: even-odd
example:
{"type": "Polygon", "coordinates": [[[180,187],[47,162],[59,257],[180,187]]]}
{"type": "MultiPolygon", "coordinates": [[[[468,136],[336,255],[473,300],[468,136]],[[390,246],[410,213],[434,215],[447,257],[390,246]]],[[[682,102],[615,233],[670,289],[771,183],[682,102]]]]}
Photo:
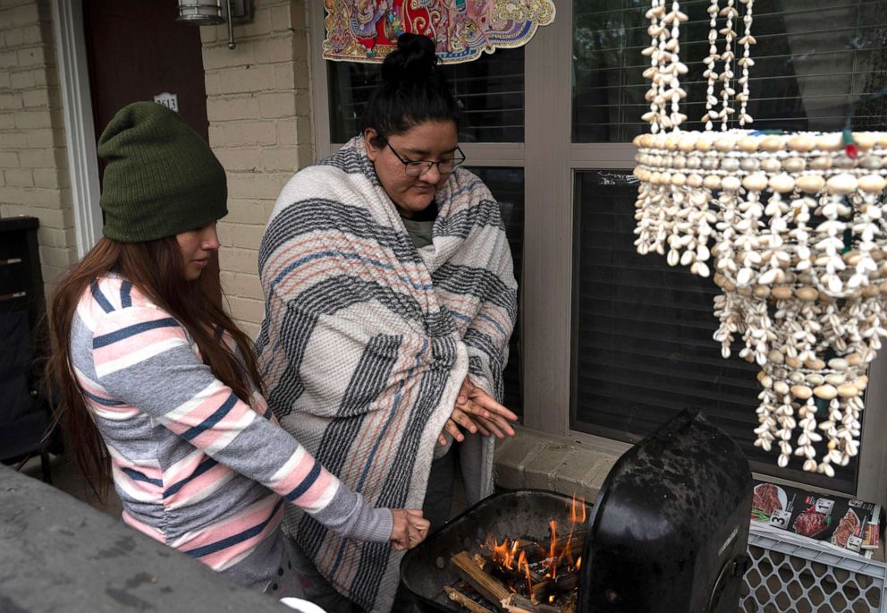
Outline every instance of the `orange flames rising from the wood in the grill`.
{"type": "Polygon", "coordinates": [[[521,593],[536,604],[540,601],[553,603],[559,595],[573,589],[569,585],[575,587],[578,583],[578,577],[570,577],[570,574],[579,571],[582,558],[574,561],[571,549],[574,541],[581,544],[580,535],[584,533],[586,520],[585,500],[574,495],[570,503],[570,525],[550,520],[550,534],[545,545],[509,537],[499,541],[488,534],[483,547],[490,551],[490,561],[500,569],[498,575],[512,592],[521,593]],[[574,539],[574,534],[579,536],[574,539]],[[564,583],[568,586],[564,587],[564,583]]]}

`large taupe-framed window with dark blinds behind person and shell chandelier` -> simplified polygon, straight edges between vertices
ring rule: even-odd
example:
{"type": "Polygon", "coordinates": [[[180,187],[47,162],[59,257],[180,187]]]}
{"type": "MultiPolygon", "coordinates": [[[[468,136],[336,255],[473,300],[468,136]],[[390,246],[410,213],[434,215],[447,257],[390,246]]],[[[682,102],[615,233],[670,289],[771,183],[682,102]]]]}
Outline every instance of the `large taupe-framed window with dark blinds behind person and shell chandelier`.
{"type": "MultiPolygon", "coordinates": [[[[682,83],[696,101],[705,92],[708,4],[682,3],[691,19],[681,33],[690,69],[682,83]]],[[[887,358],[872,367],[858,463],[833,480],[799,466],[780,470],[775,454],[751,447],[757,369],[723,360],[711,339],[714,285],[634,251],[629,143],[647,129],[639,119],[647,8],[640,0],[558,2],[554,23],[528,46],[446,69],[469,117],[460,146],[503,205],[520,270],[520,336],[512,338],[507,393],[522,391],[529,428],[614,453],[695,404],[747,450],[754,470],[887,502],[887,358]]],[[[315,48],[322,13],[312,8],[315,48]]],[[[885,26],[887,0],[756,4],[755,127],[839,128],[850,102],[887,86],[885,26]]],[[[315,89],[324,154],[356,133],[377,68],[317,59],[314,67],[327,75],[315,89]]],[[[698,102],[686,108],[694,120],[704,113],[698,102]]],[[[884,129],[885,112],[887,98],[860,106],[853,125],[884,129]]]]}

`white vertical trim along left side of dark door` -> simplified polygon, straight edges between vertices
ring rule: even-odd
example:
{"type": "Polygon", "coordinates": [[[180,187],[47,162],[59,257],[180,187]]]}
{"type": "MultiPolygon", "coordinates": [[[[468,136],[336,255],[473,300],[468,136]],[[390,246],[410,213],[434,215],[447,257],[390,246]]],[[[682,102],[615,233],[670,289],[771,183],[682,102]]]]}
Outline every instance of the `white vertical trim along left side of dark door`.
{"type": "Polygon", "coordinates": [[[89,92],[83,5],[81,0],[71,0],[54,2],[52,6],[56,65],[71,175],[74,235],[77,257],[82,258],[102,235],[96,130],[89,92]]]}

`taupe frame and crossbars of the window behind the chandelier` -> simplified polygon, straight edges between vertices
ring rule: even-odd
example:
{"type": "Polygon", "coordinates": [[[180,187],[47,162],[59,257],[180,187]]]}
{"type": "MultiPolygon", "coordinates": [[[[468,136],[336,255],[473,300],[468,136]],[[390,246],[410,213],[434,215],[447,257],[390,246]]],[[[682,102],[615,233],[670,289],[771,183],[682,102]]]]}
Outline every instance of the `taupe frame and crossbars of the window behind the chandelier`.
{"type": "MultiPolygon", "coordinates": [[[[325,38],[323,4],[307,4],[312,120],[319,159],[343,143],[330,141],[326,60],[320,53],[325,38]]],[[[569,437],[621,455],[631,447],[629,443],[570,429],[574,175],[598,169],[630,172],[634,167],[630,143],[573,143],[571,122],[551,120],[572,116],[572,13],[573,2],[557,3],[553,23],[536,30],[524,49],[524,82],[532,84],[524,94],[524,142],[466,143],[460,147],[468,158],[467,165],[524,169],[524,263],[519,279],[525,288],[520,304],[523,425],[542,435],[569,437]]],[[[712,348],[717,349],[714,341],[712,348]]],[[[882,505],[887,505],[887,446],[878,442],[887,435],[885,353],[887,343],[871,366],[855,492],[857,498],[882,505]]],[[[798,485],[769,475],[755,476],[798,485]]]]}

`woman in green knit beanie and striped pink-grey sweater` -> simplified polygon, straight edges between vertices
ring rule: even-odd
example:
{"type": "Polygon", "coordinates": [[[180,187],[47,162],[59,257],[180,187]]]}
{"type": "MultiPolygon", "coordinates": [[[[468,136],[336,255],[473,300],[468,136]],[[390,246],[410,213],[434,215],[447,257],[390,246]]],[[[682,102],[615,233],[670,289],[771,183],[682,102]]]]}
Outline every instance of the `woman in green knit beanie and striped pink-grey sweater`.
{"type": "Polygon", "coordinates": [[[138,102],[114,116],[98,153],[105,237],[55,289],[50,364],[93,489],[113,477],[126,524],[278,597],[302,595],[279,530],[285,507],[343,540],[421,541],[420,512],[368,505],[268,409],[249,338],[204,272],[227,213],[207,144],[179,115],[138,102]]]}

